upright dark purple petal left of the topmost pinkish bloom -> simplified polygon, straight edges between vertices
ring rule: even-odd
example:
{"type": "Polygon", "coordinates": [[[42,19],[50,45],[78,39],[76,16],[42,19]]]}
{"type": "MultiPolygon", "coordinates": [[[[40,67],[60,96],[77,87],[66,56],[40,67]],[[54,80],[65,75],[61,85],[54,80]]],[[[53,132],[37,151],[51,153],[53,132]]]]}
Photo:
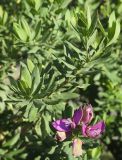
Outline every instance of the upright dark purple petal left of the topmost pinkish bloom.
{"type": "Polygon", "coordinates": [[[76,109],[72,118],[72,121],[75,122],[76,125],[78,125],[82,118],[82,108],[76,109]]]}

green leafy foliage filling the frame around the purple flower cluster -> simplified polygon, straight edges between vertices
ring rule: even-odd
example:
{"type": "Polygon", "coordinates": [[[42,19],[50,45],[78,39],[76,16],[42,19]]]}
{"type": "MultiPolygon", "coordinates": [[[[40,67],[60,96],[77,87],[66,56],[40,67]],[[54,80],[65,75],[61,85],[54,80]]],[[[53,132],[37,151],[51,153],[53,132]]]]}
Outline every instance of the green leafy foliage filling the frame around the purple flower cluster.
{"type": "Polygon", "coordinates": [[[106,122],[83,159],[122,159],[121,14],[122,0],[0,1],[2,160],[74,159],[51,121],[83,103],[106,122]]]}

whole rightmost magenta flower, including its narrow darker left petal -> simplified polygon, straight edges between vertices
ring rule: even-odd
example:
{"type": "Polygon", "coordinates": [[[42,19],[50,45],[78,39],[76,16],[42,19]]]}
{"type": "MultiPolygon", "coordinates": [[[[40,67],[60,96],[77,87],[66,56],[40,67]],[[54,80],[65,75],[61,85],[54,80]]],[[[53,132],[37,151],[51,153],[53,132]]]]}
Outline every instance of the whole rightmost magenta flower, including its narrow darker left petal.
{"type": "Polygon", "coordinates": [[[82,124],[82,134],[84,137],[90,138],[98,138],[105,130],[104,121],[100,121],[93,126],[87,126],[86,124],[82,124]]]}

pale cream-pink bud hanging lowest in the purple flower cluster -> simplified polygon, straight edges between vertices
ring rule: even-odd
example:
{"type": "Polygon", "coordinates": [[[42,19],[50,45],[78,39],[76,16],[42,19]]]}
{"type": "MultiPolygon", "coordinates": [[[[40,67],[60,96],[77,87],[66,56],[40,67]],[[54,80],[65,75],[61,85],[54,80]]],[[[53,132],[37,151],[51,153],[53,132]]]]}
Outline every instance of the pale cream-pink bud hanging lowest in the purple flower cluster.
{"type": "Polygon", "coordinates": [[[80,139],[73,140],[72,154],[74,157],[79,157],[82,155],[82,141],[80,139]]]}

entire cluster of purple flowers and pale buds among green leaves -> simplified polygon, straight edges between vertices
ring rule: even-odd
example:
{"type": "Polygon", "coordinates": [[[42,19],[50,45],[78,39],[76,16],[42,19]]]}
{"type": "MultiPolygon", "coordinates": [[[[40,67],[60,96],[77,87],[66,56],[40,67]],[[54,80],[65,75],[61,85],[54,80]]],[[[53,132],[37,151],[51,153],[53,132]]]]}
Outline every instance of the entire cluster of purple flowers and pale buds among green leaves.
{"type": "MultiPolygon", "coordinates": [[[[72,118],[52,122],[53,127],[57,130],[56,139],[63,141],[75,131],[78,133],[80,131],[83,137],[98,138],[105,130],[105,123],[100,121],[95,125],[89,125],[92,119],[93,108],[89,104],[76,109],[72,118]]],[[[72,153],[74,157],[82,155],[82,144],[78,136],[73,137],[72,153]]]]}

